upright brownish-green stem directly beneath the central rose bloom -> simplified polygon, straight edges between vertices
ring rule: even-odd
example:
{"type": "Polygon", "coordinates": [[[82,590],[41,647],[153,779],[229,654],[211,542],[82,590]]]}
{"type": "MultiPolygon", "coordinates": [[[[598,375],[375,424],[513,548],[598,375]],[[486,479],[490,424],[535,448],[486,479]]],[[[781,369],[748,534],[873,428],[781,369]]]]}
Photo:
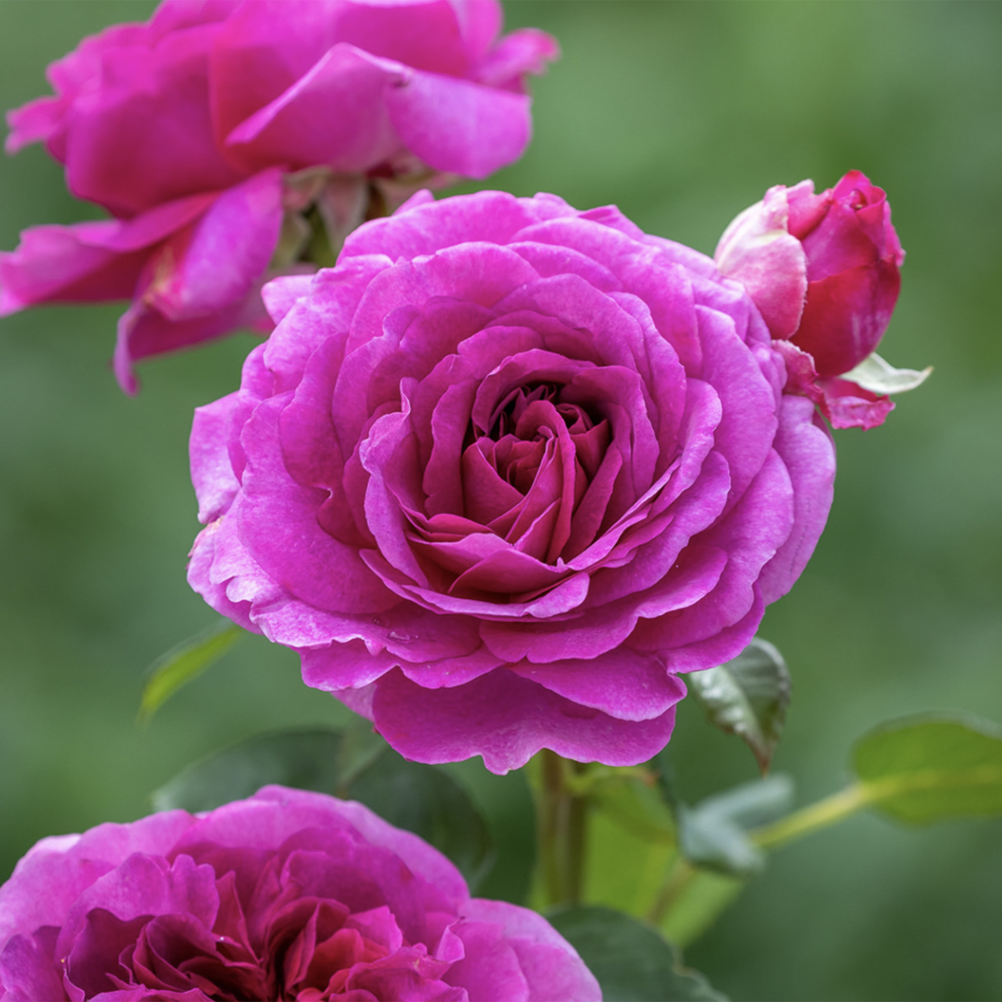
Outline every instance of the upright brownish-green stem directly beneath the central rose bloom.
{"type": "Polygon", "coordinates": [[[578,763],[544,748],[539,805],[539,860],[547,905],[581,900],[588,802],[572,793],[569,773],[581,773],[578,763]]]}

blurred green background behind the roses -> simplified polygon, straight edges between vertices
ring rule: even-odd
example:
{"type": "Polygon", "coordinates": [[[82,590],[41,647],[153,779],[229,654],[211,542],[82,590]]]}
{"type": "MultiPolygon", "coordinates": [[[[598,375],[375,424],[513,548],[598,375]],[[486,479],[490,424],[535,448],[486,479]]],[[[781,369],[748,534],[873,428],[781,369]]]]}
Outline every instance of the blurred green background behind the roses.
{"type": "MultiPolygon", "coordinates": [[[[83,34],[152,6],[0,0],[0,106],[47,92],[45,64],[83,34]]],[[[908,261],[881,351],[936,373],[884,428],[839,433],[828,530],[762,629],[795,678],[776,765],[799,801],[834,791],[853,739],[886,717],[1002,721],[1002,5],[506,13],[564,54],[498,187],[617,202],[707,253],[777,182],[825,187],[859,167],[890,194],[908,261]]],[[[92,214],[40,148],[0,162],[0,247],[92,214]]],[[[247,638],[136,726],[145,666],[214,618],[184,581],[186,440],[252,341],[148,363],[128,400],[106,365],[118,313],[0,322],[0,876],[44,835],[147,813],[153,788],[214,747],[342,717],[295,655],[247,638]]],[[[694,706],[672,747],[689,800],[755,775],[694,706]]],[[[735,999],[1002,998],[1002,821],[916,832],[861,817],[781,850],[686,959],[735,999]]]]}

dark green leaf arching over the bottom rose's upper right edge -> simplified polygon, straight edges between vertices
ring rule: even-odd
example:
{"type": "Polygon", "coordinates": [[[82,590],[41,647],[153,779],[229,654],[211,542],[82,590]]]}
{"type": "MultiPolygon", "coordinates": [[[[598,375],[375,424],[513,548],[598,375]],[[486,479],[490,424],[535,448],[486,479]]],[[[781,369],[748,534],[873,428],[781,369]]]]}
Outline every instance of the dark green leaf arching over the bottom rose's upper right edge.
{"type": "Polygon", "coordinates": [[[443,770],[390,750],[347,785],[346,796],[430,842],[474,891],[490,870],[494,854],[487,826],[466,791],[443,770]]]}

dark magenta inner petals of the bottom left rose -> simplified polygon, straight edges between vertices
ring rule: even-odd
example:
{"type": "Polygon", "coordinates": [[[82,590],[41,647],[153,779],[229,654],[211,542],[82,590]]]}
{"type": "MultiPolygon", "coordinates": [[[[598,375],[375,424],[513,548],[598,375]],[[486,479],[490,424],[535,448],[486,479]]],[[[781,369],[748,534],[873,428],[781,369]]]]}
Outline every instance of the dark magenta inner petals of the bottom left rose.
{"type": "MultiPolygon", "coordinates": [[[[437,980],[449,963],[430,958],[424,944],[412,946],[397,922],[399,915],[414,927],[412,933],[422,932],[413,889],[390,895],[393,908],[381,903],[388,897],[379,887],[385,879],[379,870],[392,869],[394,858],[375,847],[346,846],[337,833],[318,838],[340,855],[296,848],[292,840],[278,853],[257,858],[210,854],[220,867],[248,871],[228,870],[216,879],[214,918],[211,909],[202,917],[168,912],[127,920],[107,908],[90,909],[66,958],[68,982],[86,998],[144,989],[196,991],[217,1000],[324,1002],[369,983],[395,985],[401,972],[414,981],[408,990],[437,980]],[[285,859],[284,850],[291,850],[285,859]],[[367,876],[351,864],[365,864],[367,876]],[[310,893],[334,888],[356,905],[372,907],[352,908],[310,893]]],[[[311,837],[305,844],[317,841],[311,837]]],[[[397,997],[394,988],[386,990],[390,995],[376,997],[397,997]]]]}

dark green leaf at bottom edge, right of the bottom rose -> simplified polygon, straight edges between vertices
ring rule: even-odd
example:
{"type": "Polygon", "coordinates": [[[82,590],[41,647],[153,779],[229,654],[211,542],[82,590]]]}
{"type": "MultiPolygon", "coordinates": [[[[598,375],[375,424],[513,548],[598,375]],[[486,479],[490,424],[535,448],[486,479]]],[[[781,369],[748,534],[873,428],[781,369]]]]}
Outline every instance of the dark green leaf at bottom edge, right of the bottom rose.
{"type": "Polygon", "coordinates": [[[726,1002],[701,974],[679,966],[655,929],[629,915],[588,905],[554,909],[546,918],[598,979],[605,1002],[726,1002]]]}

